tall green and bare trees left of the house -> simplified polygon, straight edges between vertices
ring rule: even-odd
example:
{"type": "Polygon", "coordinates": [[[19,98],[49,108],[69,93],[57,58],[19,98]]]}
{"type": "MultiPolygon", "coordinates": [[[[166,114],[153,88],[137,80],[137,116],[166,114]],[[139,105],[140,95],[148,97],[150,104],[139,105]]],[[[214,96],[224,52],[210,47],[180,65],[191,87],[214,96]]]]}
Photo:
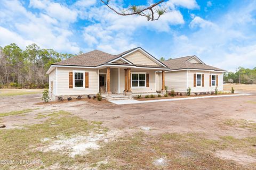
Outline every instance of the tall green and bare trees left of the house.
{"type": "Polygon", "coordinates": [[[0,46],[0,88],[44,88],[49,86],[46,71],[51,64],[73,57],[31,44],[22,50],[12,43],[0,46]]]}

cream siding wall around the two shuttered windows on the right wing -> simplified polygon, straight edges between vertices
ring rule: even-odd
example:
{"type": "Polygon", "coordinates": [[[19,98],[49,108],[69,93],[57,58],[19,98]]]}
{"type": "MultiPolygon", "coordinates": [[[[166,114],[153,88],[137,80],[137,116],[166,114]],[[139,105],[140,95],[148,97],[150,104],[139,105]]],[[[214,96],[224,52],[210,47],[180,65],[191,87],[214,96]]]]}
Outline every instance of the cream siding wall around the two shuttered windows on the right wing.
{"type": "Polygon", "coordinates": [[[214,91],[215,86],[210,87],[210,74],[218,75],[218,90],[223,90],[223,75],[219,72],[209,72],[209,71],[188,71],[188,87],[191,88],[191,92],[206,92],[214,91]],[[202,73],[204,74],[204,87],[194,87],[194,74],[202,73]]]}

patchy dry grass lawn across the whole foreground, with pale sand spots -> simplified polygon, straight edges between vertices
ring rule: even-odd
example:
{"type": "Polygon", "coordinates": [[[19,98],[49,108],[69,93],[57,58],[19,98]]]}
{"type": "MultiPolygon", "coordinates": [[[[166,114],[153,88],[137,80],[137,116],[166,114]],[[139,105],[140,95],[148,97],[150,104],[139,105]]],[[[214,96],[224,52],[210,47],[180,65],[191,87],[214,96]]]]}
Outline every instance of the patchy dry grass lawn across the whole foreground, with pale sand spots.
{"type": "Polygon", "coordinates": [[[102,127],[102,122],[86,121],[64,111],[38,116],[47,119],[22,129],[0,130],[0,160],[39,160],[43,164],[3,165],[2,169],[250,169],[256,166],[216,155],[217,151],[235,155],[239,151],[256,158],[256,137],[225,136],[210,140],[199,133],[153,136],[140,131],[106,142],[104,135],[108,129],[102,127]],[[81,146],[79,140],[86,142],[81,146]],[[90,145],[94,146],[83,150],[90,145]],[[77,150],[84,154],[72,154],[77,150]]]}

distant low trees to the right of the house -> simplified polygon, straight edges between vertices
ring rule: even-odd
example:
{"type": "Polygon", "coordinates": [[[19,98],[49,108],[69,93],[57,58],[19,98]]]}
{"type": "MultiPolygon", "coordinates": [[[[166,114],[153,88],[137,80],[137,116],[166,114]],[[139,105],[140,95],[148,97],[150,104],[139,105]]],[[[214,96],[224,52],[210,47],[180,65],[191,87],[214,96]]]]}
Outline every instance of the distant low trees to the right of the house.
{"type": "Polygon", "coordinates": [[[238,67],[236,72],[224,73],[223,80],[229,83],[256,84],[256,67],[254,69],[238,67]]]}

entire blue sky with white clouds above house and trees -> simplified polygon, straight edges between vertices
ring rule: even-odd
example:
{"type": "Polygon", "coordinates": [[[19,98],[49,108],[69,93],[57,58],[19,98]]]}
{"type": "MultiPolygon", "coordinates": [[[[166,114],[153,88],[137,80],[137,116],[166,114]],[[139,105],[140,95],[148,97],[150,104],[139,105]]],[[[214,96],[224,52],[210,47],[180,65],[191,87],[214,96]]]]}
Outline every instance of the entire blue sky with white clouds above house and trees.
{"type": "MultiPolygon", "coordinates": [[[[197,55],[235,71],[256,67],[256,1],[166,0],[158,21],[119,16],[99,0],[0,0],[0,46],[36,43],[62,53],[99,49],[118,54],[142,47],[156,58],[197,55]]],[[[152,1],[115,1],[127,7],[152,1]]]]}

